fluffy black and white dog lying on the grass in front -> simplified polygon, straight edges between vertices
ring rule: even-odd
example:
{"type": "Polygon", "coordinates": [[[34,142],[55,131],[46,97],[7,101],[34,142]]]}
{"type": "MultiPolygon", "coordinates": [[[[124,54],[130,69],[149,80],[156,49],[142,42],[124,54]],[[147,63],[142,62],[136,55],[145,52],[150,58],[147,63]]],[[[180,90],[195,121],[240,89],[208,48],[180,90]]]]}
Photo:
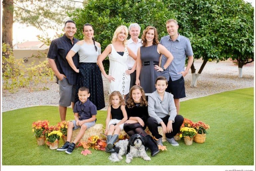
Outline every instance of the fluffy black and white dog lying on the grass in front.
{"type": "Polygon", "coordinates": [[[151,158],[145,151],[145,142],[145,137],[139,134],[132,135],[129,140],[120,140],[114,146],[115,152],[108,159],[113,162],[120,161],[123,159],[122,155],[126,154],[126,163],[130,163],[133,157],[142,157],[150,161],[151,158]]]}

